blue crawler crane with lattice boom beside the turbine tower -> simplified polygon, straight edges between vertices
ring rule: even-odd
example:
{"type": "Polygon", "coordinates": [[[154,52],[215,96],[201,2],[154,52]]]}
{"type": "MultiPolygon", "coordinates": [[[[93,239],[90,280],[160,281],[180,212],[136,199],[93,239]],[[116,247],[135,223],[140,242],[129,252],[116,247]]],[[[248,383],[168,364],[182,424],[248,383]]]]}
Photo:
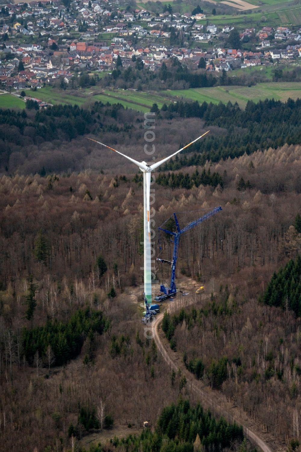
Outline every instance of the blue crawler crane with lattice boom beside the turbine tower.
{"type": "Polygon", "coordinates": [[[164,232],[166,232],[166,234],[170,234],[174,237],[174,252],[173,252],[172,262],[170,262],[169,260],[166,260],[166,259],[157,258],[157,260],[162,262],[163,264],[171,265],[171,277],[170,277],[170,286],[169,287],[165,287],[164,284],[160,285],[161,294],[157,295],[157,297],[155,297],[155,301],[164,301],[167,298],[173,297],[177,293],[177,288],[176,288],[176,284],[175,284],[175,268],[176,268],[177,259],[178,259],[179,240],[180,240],[181,234],[183,234],[183,232],[189,231],[189,229],[192,229],[194,226],[197,226],[198,224],[202,223],[202,221],[207,220],[207,218],[212,217],[213,215],[215,215],[217,212],[220,212],[221,210],[222,210],[221,207],[215,207],[211,212],[206,213],[206,215],[203,215],[201,218],[198,218],[198,220],[192,221],[187,226],[185,226],[182,230],[179,226],[178,218],[177,218],[176,214],[174,213],[176,232],[167,231],[166,229],[163,229],[161,227],[158,228],[158,229],[160,229],[160,231],[164,231],[164,232]]]}

